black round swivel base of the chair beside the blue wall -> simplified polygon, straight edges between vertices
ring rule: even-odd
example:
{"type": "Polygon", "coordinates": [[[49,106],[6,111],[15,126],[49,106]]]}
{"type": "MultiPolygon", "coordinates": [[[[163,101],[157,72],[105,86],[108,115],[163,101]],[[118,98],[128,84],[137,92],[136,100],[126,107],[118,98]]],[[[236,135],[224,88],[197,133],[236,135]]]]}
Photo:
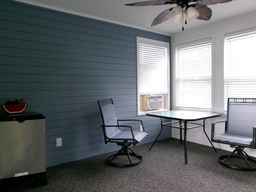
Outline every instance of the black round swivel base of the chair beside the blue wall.
{"type": "Polygon", "coordinates": [[[142,162],[142,156],[139,154],[136,154],[135,152],[133,152],[129,146],[122,146],[122,148],[114,155],[110,156],[108,158],[108,163],[113,165],[113,166],[118,166],[118,167],[129,167],[129,166],[135,166],[138,165],[142,162]],[[130,150],[131,152],[129,152],[128,150],[130,150]],[[124,158],[121,158],[121,160],[118,160],[118,158],[120,158],[120,156],[127,156],[128,160],[127,163],[124,163],[123,160],[124,158]],[[133,162],[131,156],[135,157],[136,162],[133,162]],[[117,161],[115,161],[115,159],[117,161]],[[122,163],[118,163],[122,161],[122,163]]]}

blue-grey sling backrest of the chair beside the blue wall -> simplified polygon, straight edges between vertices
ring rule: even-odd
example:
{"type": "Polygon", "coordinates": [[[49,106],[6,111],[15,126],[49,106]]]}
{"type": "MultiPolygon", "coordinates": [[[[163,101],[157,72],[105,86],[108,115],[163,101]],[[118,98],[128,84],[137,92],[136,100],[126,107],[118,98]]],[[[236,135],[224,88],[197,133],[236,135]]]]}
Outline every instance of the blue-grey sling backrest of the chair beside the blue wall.
{"type": "Polygon", "coordinates": [[[98,100],[98,105],[100,107],[103,126],[116,126],[107,128],[103,127],[104,136],[111,138],[114,134],[120,132],[119,128],[117,127],[118,122],[114,102],[112,99],[98,100]]]}

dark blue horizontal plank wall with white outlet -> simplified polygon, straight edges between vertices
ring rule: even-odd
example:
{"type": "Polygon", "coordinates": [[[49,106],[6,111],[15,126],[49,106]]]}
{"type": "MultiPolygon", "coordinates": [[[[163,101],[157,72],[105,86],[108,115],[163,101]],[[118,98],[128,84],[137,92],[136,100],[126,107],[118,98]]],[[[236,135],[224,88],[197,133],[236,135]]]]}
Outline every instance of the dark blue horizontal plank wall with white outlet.
{"type": "MultiPolygon", "coordinates": [[[[47,167],[119,149],[104,143],[98,99],[113,98],[120,119],[144,121],[149,135],[141,144],[156,138],[160,120],[136,112],[136,36],[170,42],[161,34],[0,0],[0,104],[24,98],[26,111],[44,114],[47,167]]],[[[164,130],[160,139],[170,133],[164,130]]]]}

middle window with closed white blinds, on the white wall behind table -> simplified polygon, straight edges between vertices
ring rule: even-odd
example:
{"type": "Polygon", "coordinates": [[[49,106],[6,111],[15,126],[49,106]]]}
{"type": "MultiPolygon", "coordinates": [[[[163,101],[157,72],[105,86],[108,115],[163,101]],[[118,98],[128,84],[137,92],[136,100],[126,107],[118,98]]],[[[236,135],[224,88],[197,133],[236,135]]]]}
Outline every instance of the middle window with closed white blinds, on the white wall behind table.
{"type": "Polygon", "coordinates": [[[176,46],[176,109],[212,108],[212,47],[206,38],[176,46]]]}

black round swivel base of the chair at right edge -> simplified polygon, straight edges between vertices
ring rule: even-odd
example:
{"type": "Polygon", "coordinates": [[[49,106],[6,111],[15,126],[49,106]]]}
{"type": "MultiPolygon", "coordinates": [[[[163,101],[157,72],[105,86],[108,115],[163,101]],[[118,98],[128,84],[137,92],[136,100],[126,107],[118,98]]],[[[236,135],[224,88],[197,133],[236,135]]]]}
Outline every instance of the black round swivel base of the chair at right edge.
{"type": "Polygon", "coordinates": [[[235,169],[235,170],[242,170],[242,171],[256,170],[256,160],[252,159],[246,152],[244,152],[243,147],[236,147],[236,149],[230,155],[220,156],[219,163],[222,164],[223,166],[226,166],[228,168],[235,169]],[[234,154],[235,152],[237,152],[236,155],[234,154]],[[232,160],[234,158],[244,160],[247,166],[246,167],[240,166],[240,165],[236,166],[236,165],[227,163],[228,160],[232,160]],[[249,162],[252,162],[252,163],[249,164],[249,162]]]}

